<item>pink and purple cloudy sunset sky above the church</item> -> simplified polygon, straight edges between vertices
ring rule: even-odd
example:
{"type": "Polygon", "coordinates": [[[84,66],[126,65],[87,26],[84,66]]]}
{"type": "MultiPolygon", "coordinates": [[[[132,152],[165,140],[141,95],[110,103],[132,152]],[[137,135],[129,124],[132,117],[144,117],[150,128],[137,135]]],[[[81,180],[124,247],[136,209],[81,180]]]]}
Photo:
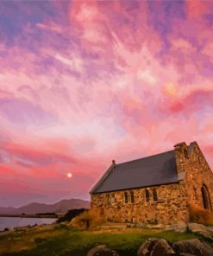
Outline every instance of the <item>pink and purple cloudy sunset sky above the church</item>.
{"type": "Polygon", "coordinates": [[[182,141],[213,169],[212,29],[212,1],[0,2],[0,206],[182,141]]]}

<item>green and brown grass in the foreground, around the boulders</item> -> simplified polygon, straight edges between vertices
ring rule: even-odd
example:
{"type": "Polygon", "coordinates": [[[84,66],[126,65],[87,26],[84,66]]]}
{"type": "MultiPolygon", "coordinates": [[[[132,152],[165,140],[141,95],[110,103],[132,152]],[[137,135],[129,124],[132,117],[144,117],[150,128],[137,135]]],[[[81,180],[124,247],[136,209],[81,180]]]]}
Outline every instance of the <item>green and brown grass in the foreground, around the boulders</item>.
{"type": "Polygon", "coordinates": [[[0,236],[0,255],[85,256],[92,246],[106,244],[121,256],[135,256],[141,243],[153,236],[165,238],[170,243],[197,237],[191,233],[179,234],[145,228],[96,231],[75,231],[66,227],[37,229],[0,236]]]}

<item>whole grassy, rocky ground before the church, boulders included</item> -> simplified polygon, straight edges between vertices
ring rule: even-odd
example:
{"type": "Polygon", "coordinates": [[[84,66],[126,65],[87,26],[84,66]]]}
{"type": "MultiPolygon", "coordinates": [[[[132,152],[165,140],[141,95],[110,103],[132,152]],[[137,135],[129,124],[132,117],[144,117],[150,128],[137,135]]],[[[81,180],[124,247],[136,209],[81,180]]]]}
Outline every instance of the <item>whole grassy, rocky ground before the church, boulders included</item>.
{"type": "Polygon", "coordinates": [[[175,225],[105,223],[75,231],[68,223],[16,227],[0,233],[0,255],[213,256],[213,228],[179,221],[175,225]]]}

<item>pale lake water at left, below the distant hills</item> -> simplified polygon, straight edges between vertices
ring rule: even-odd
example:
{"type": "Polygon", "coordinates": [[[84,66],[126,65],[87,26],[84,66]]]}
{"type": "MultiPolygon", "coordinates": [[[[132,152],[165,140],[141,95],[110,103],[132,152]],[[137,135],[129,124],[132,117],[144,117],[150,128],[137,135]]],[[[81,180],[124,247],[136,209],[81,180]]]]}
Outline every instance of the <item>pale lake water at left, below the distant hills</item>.
{"type": "Polygon", "coordinates": [[[0,230],[3,230],[5,227],[22,227],[22,226],[32,226],[35,223],[38,225],[41,224],[52,224],[57,219],[42,219],[42,218],[12,218],[12,217],[0,217],[0,230]]]}

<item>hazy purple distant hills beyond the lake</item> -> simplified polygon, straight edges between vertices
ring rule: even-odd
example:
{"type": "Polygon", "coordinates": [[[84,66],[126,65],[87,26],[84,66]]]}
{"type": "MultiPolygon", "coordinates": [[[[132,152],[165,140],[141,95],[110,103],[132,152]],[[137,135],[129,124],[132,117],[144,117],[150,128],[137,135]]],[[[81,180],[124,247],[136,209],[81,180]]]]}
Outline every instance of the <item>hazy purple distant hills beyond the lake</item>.
{"type": "Polygon", "coordinates": [[[0,207],[0,214],[66,213],[70,209],[90,208],[91,202],[81,199],[65,199],[53,204],[31,202],[20,208],[0,207]]]}

